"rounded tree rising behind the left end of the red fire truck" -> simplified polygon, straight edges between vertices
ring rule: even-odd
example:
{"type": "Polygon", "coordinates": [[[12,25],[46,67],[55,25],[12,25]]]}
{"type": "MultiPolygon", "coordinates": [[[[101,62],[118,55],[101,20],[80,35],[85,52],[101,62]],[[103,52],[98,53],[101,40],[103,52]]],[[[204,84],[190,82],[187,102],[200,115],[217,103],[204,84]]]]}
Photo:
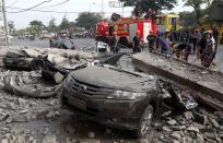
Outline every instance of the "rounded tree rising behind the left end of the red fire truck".
{"type": "Polygon", "coordinates": [[[77,26],[85,27],[86,29],[91,29],[91,28],[94,28],[96,24],[102,20],[103,17],[101,14],[83,12],[79,14],[75,22],[77,22],[77,26]]]}

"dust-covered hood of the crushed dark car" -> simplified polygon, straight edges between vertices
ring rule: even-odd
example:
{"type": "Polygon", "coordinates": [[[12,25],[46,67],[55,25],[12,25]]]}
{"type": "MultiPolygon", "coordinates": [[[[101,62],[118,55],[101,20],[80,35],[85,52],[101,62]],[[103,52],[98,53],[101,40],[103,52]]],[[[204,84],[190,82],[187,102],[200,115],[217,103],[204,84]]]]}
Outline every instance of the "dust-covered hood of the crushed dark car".
{"type": "Polygon", "coordinates": [[[85,84],[129,92],[145,92],[155,88],[155,76],[142,76],[122,70],[104,67],[87,67],[71,73],[71,78],[85,84]]]}

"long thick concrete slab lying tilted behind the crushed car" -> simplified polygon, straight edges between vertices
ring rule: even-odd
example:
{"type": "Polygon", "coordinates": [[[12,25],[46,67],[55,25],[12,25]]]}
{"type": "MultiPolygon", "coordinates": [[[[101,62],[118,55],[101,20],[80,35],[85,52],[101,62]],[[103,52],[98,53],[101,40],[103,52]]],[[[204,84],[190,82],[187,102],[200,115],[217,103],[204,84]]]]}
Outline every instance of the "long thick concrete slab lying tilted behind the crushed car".
{"type": "Polygon", "coordinates": [[[161,53],[141,52],[132,57],[133,65],[165,76],[195,91],[223,102],[223,73],[195,65],[161,53]]]}

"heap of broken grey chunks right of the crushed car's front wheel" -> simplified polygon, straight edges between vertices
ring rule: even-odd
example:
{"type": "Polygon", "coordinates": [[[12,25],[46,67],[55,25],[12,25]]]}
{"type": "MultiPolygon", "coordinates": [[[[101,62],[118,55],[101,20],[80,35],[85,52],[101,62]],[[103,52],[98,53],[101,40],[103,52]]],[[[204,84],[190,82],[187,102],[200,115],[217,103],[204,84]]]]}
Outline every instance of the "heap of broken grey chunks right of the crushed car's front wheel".
{"type": "Polygon", "coordinates": [[[223,142],[223,116],[202,108],[165,116],[155,123],[155,129],[162,142],[223,142]]]}

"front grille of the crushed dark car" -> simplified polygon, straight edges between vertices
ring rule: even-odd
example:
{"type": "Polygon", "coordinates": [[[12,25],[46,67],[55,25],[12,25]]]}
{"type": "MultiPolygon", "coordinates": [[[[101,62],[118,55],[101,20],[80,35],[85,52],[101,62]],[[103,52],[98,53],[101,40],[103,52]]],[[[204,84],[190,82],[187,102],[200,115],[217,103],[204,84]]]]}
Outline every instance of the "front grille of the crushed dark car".
{"type": "Polygon", "coordinates": [[[69,88],[72,92],[77,92],[81,95],[86,95],[86,96],[108,95],[114,92],[114,90],[84,83],[84,82],[74,80],[73,78],[70,81],[69,88]]]}

